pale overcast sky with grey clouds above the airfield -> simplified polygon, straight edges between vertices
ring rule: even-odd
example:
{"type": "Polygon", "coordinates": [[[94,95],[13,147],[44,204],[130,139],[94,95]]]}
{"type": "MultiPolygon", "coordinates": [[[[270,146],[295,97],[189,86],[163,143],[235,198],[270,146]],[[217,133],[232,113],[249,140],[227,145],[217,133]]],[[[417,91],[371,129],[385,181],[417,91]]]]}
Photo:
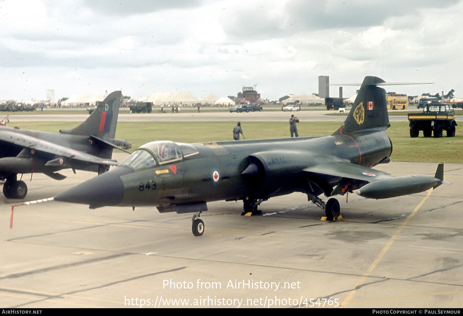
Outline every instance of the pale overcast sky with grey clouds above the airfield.
{"type": "Polygon", "coordinates": [[[386,89],[463,97],[462,2],[0,0],[0,99],[222,97],[257,85],[273,100],[317,93],[319,75],[434,82],[386,89]]]}

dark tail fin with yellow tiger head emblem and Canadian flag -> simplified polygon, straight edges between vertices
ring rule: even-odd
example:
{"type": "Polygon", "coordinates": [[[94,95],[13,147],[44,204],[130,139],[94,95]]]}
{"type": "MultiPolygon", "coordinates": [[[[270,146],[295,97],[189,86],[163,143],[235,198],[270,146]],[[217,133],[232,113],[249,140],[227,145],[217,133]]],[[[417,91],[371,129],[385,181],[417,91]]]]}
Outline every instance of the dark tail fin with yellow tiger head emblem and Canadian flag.
{"type": "Polygon", "coordinates": [[[386,91],[376,86],[382,84],[386,82],[378,77],[367,76],[363,79],[349,115],[333,135],[352,134],[370,128],[386,129],[390,126],[386,91]]]}

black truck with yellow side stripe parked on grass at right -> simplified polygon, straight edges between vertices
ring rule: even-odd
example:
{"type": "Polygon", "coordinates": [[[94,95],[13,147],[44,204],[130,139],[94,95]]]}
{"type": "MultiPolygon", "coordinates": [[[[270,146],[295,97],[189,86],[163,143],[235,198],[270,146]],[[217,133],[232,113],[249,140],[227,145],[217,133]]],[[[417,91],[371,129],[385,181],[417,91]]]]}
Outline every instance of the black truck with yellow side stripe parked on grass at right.
{"type": "Polygon", "coordinates": [[[419,131],[423,131],[424,137],[442,137],[445,130],[447,137],[455,136],[455,117],[453,109],[448,103],[426,103],[423,113],[408,113],[408,126],[410,137],[418,137],[419,131]]]}

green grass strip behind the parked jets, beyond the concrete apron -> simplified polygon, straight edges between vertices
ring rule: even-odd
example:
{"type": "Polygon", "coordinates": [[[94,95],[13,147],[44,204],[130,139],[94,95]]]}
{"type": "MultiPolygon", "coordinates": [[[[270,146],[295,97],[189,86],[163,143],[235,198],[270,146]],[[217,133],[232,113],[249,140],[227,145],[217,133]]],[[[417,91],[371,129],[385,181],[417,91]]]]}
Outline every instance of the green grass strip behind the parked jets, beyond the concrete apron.
{"type": "MultiPolygon", "coordinates": [[[[232,140],[235,122],[119,122],[116,138],[132,143],[131,151],[154,140],[185,143],[232,140]]],[[[20,128],[58,132],[79,125],[77,122],[23,122],[20,128]]],[[[246,139],[289,137],[287,122],[241,122],[246,139]]],[[[300,122],[300,136],[331,135],[338,122],[300,122]]],[[[393,123],[388,128],[392,140],[393,161],[463,163],[463,134],[457,127],[455,137],[410,138],[408,122],[393,123]]]]}

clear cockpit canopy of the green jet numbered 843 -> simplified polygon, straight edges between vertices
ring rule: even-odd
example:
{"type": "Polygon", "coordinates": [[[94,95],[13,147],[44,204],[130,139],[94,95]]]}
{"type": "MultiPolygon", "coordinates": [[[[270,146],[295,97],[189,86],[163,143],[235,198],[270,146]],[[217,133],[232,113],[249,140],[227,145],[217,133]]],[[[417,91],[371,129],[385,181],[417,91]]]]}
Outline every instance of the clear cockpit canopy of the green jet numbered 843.
{"type": "Polygon", "coordinates": [[[138,170],[154,167],[158,164],[174,163],[198,153],[196,147],[191,144],[159,140],[139,147],[121,165],[138,170]]]}

